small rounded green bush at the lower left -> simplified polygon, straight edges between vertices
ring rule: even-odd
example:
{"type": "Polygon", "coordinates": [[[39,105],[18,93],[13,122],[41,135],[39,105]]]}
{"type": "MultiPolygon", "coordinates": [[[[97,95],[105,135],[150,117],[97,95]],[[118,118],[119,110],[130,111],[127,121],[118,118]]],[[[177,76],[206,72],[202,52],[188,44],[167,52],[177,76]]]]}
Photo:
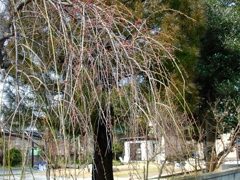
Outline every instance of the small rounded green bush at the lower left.
{"type": "Polygon", "coordinates": [[[7,151],[5,158],[6,158],[5,159],[6,164],[9,165],[9,162],[10,162],[10,166],[17,166],[22,163],[22,153],[17,148],[13,148],[13,149],[10,149],[10,151],[7,151]],[[9,155],[10,155],[10,158],[9,158],[9,155]]]}

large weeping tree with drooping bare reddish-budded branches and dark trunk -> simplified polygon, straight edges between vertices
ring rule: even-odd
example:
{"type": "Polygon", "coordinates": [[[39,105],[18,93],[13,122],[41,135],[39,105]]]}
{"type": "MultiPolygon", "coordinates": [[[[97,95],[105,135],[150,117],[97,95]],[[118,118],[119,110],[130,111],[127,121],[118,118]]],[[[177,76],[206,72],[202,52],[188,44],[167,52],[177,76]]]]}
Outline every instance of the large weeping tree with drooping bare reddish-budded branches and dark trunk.
{"type": "MultiPolygon", "coordinates": [[[[185,132],[191,136],[195,122],[188,118],[184,92],[164,65],[172,63],[181,75],[168,51],[173,47],[156,40],[145,21],[134,19],[118,2],[3,2],[1,62],[12,62],[4,67],[18,82],[10,124],[21,117],[20,129],[28,121],[45,132],[43,156],[48,164],[67,166],[71,156],[76,164],[78,144],[92,139],[92,178],[111,180],[112,133],[124,127],[129,136],[148,138],[149,123],[155,125],[155,138],[164,136],[173,153],[181,148],[173,148],[169,134],[191,156],[185,132]],[[34,100],[20,96],[25,84],[34,100]],[[31,116],[21,113],[28,103],[31,116]]],[[[89,145],[84,149],[88,152],[89,145]]]]}

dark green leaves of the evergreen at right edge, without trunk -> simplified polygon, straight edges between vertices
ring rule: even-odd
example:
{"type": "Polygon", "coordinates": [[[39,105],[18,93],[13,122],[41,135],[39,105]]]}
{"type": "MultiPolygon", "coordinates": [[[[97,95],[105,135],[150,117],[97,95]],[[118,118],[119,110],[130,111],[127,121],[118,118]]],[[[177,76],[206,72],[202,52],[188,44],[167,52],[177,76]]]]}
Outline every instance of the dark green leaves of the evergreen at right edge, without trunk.
{"type": "MultiPolygon", "coordinates": [[[[202,58],[198,64],[198,82],[201,99],[219,103],[219,109],[228,106],[226,122],[236,125],[239,102],[239,6],[236,3],[207,1],[208,30],[202,40],[202,58]]],[[[202,105],[203,107],[204,105],[202,105]]],[[[201,109],[201,108],[200,108],[201,109]]],[[[230,128],[231,129],[231,128],[230,128]]]]}

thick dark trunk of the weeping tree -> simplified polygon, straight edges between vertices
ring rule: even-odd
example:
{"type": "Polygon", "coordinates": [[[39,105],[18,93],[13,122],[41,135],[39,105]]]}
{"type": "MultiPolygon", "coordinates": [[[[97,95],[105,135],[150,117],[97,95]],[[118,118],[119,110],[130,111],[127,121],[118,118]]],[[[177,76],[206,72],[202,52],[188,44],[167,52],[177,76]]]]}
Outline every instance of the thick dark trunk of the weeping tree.
{"type": "Polygon", "coordinates": [[[107,120],[99,118],[95,124],[95,145],[92,179],[93,180],[113,180],[112,168],[112,136],[107,120]]]}

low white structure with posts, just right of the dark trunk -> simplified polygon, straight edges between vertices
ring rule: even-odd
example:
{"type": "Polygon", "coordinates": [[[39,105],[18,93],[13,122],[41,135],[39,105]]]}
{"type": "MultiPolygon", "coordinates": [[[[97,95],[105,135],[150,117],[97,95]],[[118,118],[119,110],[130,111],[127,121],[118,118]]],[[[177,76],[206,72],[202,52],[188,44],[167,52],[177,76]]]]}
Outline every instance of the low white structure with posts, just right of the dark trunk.
{"type": "Polygon", "coordinates": [[[123,163],[129,161],[155,161],[157,163],[163,163],[166,157],[183,153],[185,151],[191,151],[199,159],[203,159],[203,144],[189,141],[187,144],[181,142],[174,136],[168,137],[166,140],[163,136],[156,140],[145,137],[123,138],[124,142],[124,157],[120,160],[123,163]]]}

